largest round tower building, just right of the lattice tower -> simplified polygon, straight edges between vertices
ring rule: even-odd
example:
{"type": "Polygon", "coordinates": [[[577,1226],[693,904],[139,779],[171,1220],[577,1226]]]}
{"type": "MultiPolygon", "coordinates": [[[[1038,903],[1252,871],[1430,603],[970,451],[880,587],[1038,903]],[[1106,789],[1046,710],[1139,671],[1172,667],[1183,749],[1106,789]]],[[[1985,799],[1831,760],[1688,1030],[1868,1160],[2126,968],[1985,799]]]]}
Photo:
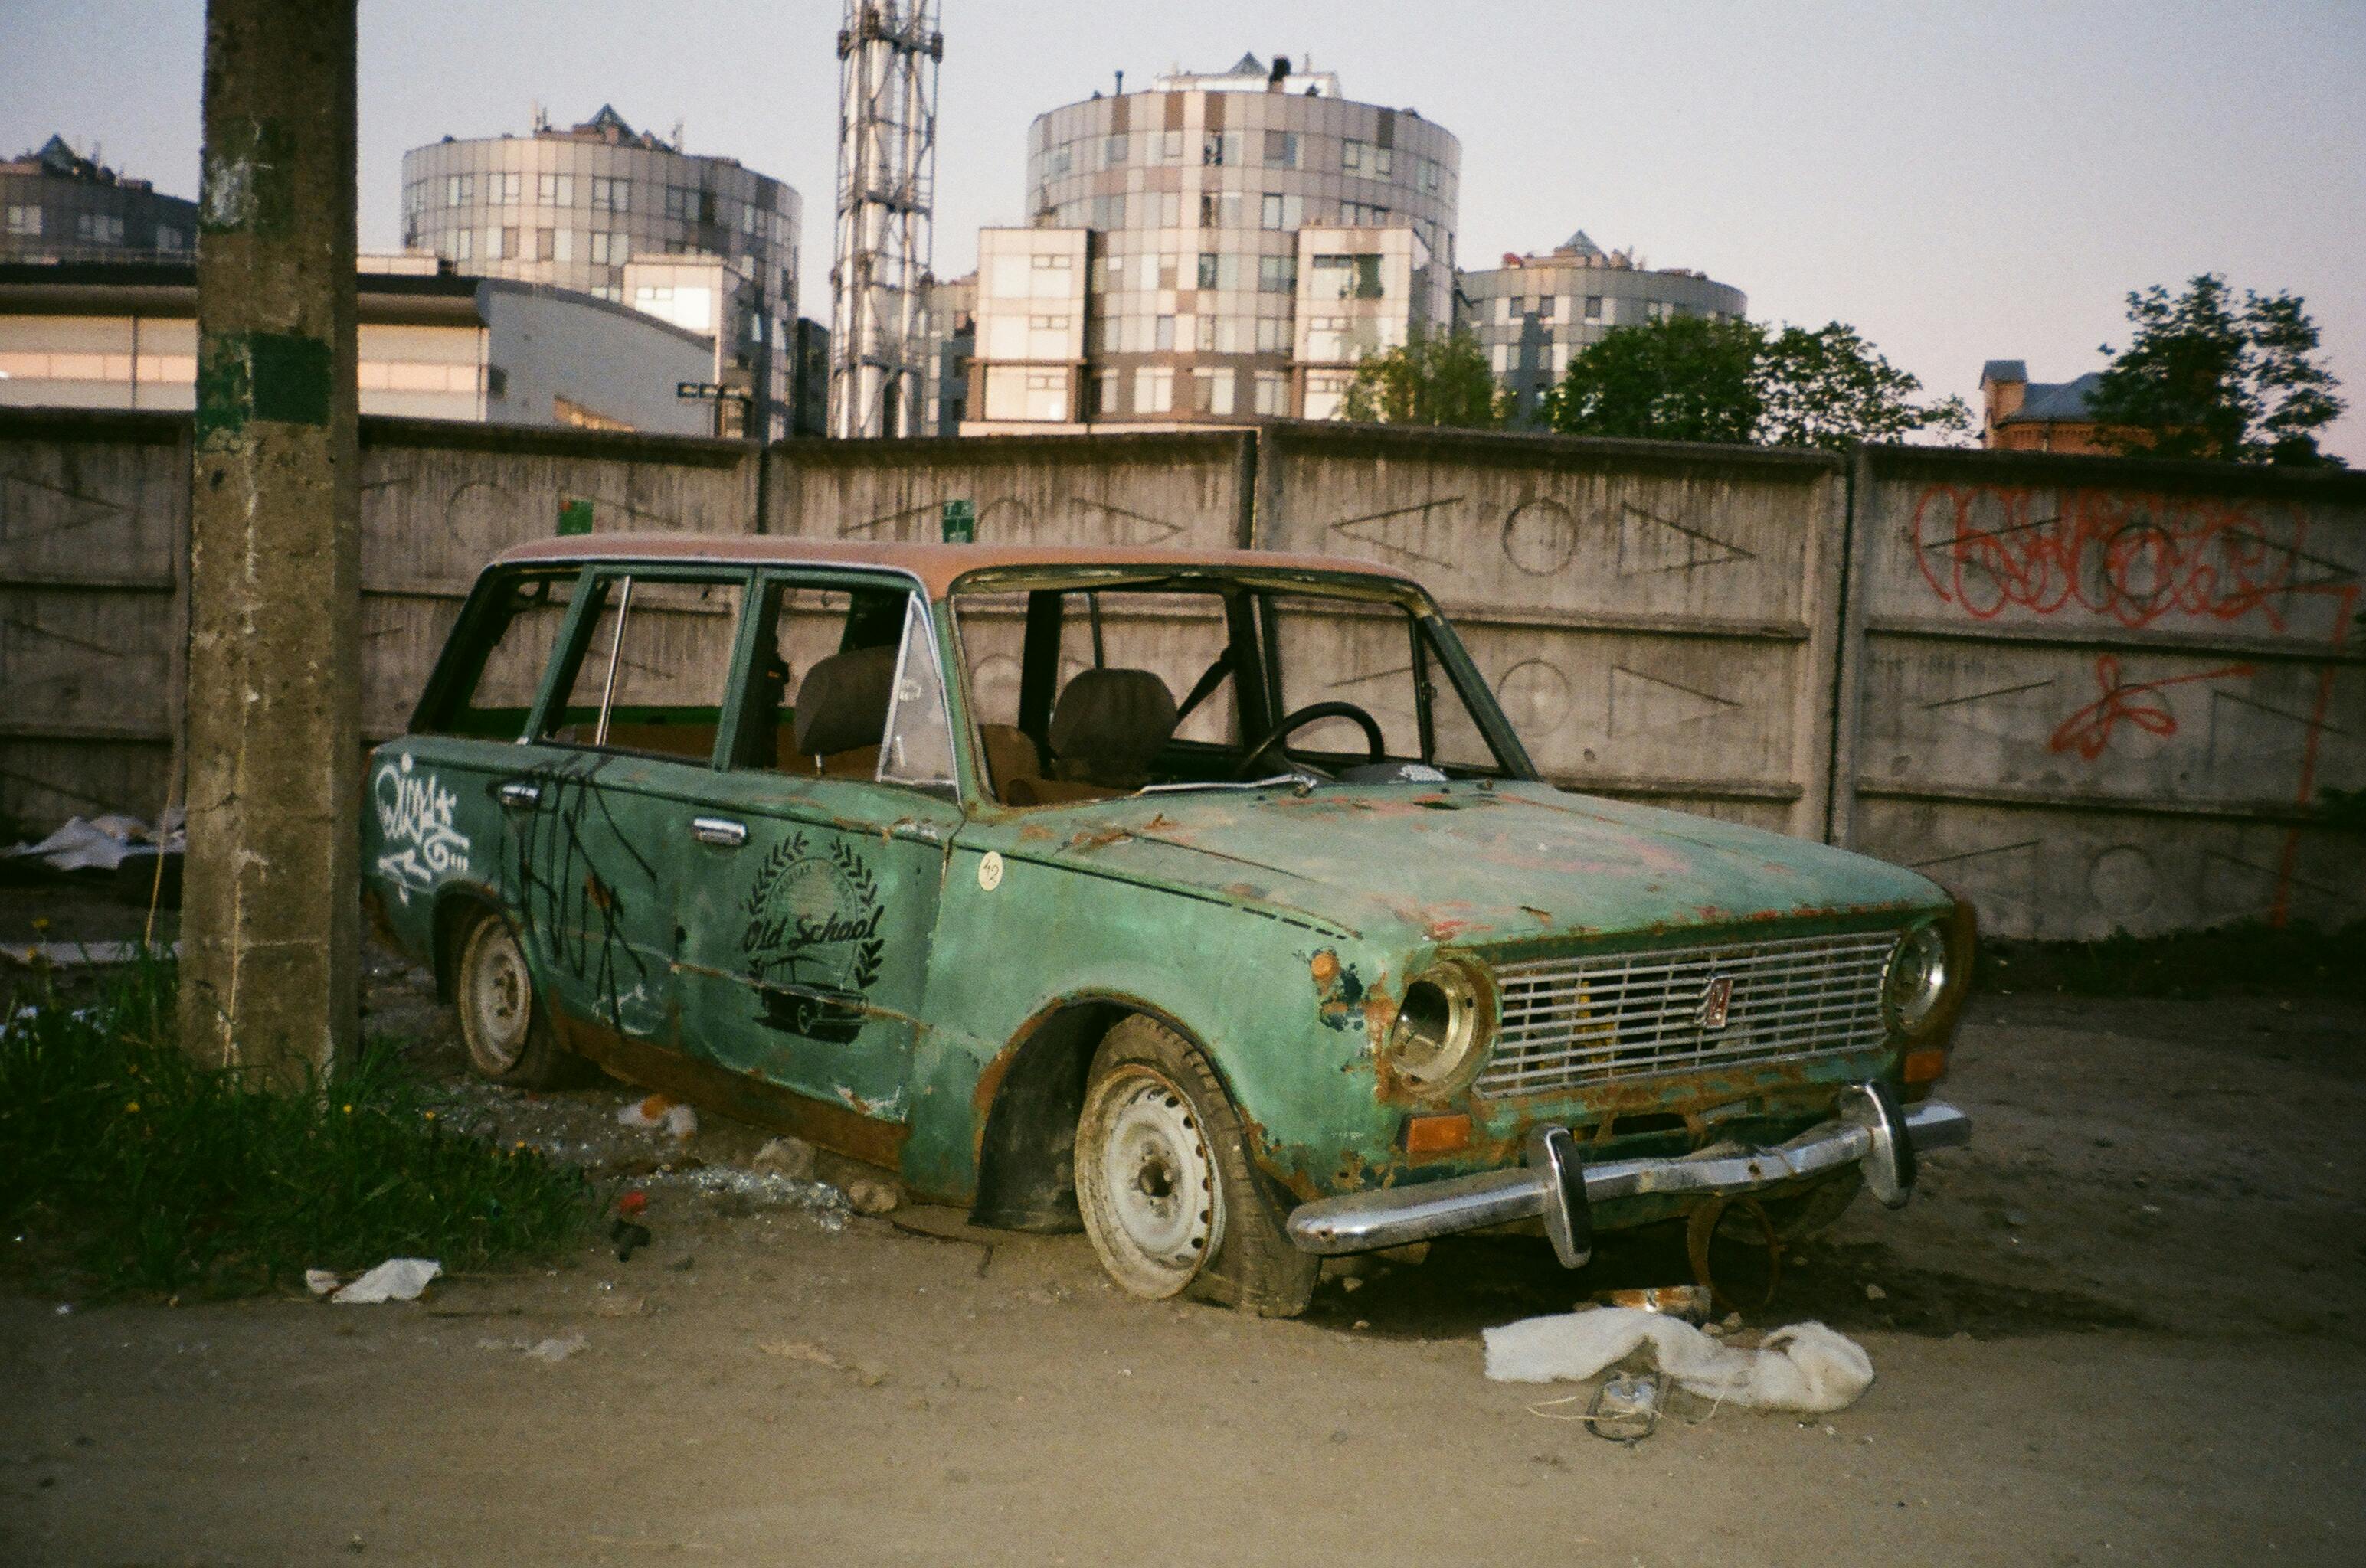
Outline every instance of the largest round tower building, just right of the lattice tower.
{"type": "Polygon", "coordinates": [[[1363,352],[1450,319],[1460,161],[1413,109],[1254,54],[1039,116],[1043,244],[982,237],[963,428],[1327,416],[1363,352]],[[1048,232],[1088,237],[1074,289],[1048,232]]]}

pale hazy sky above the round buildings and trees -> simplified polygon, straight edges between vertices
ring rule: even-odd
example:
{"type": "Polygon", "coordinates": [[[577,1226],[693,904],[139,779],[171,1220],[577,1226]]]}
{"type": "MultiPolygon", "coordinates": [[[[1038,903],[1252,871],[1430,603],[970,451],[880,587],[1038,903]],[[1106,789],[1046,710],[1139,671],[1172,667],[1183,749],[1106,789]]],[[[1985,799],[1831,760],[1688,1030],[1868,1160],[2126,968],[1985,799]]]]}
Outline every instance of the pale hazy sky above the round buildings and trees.
{"type": "MultiPolygon", "coordinates": [[[[797,187],[826,319],[840,12],[362,0],[362,246],[397,246],[407,147],[608,102],[797,187]]],[[[1465,267],[1583,227],[1753,317],[1850,322],[1931,393],[2101,369],[2148,284],[2300,293],[2349,383],[2326,447],[2366,466],[2366,0],[944,0],[944,35],[942,277],[1022,220],[1036,114],[1289,54],[1462,140],[1465,267]]],[[[0,0],[0,154],[62,132],[194,196],[201,61],[196,0],[0,0]]]]}

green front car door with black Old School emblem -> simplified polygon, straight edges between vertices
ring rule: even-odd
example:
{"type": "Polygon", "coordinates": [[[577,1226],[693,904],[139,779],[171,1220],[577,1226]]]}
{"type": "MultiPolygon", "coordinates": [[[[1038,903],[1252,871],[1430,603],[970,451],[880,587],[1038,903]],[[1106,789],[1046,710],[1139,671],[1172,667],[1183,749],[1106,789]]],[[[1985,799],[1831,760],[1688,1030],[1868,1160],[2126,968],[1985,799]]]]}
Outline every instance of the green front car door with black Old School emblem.
{"type": "Polygon", "coordinates": [[[930,605],[909,579],[767,575],[738,667],[731,766],[684,823],[684,1050],[821,1107],[816,1140],[883,1156],[963,818],[930,605]]]}

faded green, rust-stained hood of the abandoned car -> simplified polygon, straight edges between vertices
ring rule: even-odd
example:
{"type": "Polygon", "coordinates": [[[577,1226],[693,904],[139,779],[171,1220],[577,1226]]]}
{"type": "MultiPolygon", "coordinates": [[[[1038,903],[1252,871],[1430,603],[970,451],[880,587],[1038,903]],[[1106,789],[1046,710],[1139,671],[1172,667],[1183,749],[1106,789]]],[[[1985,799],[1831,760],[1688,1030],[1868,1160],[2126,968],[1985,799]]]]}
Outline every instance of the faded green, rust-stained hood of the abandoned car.
{"type": "Polygon", "coordinates": [[[1845,849],[1538,783],[1138,795],[1065,816],[1060,858],[1368,937],[1479,946],[1947,901],[1845,849]]]}

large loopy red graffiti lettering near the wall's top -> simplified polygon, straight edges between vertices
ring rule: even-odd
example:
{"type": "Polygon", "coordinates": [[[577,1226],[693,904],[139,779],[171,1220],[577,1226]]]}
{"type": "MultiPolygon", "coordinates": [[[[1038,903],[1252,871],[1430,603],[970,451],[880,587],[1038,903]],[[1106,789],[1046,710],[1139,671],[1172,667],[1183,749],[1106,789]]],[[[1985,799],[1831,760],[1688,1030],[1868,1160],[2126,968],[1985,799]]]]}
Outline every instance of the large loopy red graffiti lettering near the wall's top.
{"type": "Polygon", "coordinates": [[[2307,527],[2297,508],[2269,523],[2224,497],[1931,485],[1914,504],[1914,563],[1978,620],[2011,605],[2037,615],[2077,605],[2125,627],[2260,610],[2283,631],[2290,594],[2347,579],[2340,570],[2300,579],[2307,527]]]}

